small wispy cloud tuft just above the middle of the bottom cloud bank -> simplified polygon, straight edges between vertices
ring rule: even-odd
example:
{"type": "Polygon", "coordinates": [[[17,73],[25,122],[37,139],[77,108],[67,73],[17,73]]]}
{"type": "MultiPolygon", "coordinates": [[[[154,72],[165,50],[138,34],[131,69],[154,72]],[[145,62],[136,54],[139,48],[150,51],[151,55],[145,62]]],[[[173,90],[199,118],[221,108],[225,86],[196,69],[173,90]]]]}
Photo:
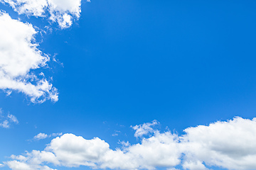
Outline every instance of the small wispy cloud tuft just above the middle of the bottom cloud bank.
{"type": "Polygon", "coordinates": [[[142,137],[143,135],[148,135],[151,132],[154,132],[154,125],[159,124],[156,120],[153,120],[151,123],[144,123],[143,125],[135,125],[132,128],[135,130],[134,137],[142,137]]]}

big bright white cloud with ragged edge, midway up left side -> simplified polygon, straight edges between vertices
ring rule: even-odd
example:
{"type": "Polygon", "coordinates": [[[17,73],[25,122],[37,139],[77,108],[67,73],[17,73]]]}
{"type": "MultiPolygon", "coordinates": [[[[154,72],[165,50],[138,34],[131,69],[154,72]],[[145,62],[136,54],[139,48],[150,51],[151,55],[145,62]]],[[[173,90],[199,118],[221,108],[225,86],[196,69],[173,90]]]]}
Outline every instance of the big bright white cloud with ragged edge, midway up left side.
{"type": "Polygon", "coordinates": [[[47,99],[55,102],[58,101],[57,89],[43,74],[36,76],[31,72],[45,67],[49,61],[48,55],[33,43],[36,33],[31,24],[0,13],[0,89],[22,92],[33,103],[42,103],[47,99]]]}

